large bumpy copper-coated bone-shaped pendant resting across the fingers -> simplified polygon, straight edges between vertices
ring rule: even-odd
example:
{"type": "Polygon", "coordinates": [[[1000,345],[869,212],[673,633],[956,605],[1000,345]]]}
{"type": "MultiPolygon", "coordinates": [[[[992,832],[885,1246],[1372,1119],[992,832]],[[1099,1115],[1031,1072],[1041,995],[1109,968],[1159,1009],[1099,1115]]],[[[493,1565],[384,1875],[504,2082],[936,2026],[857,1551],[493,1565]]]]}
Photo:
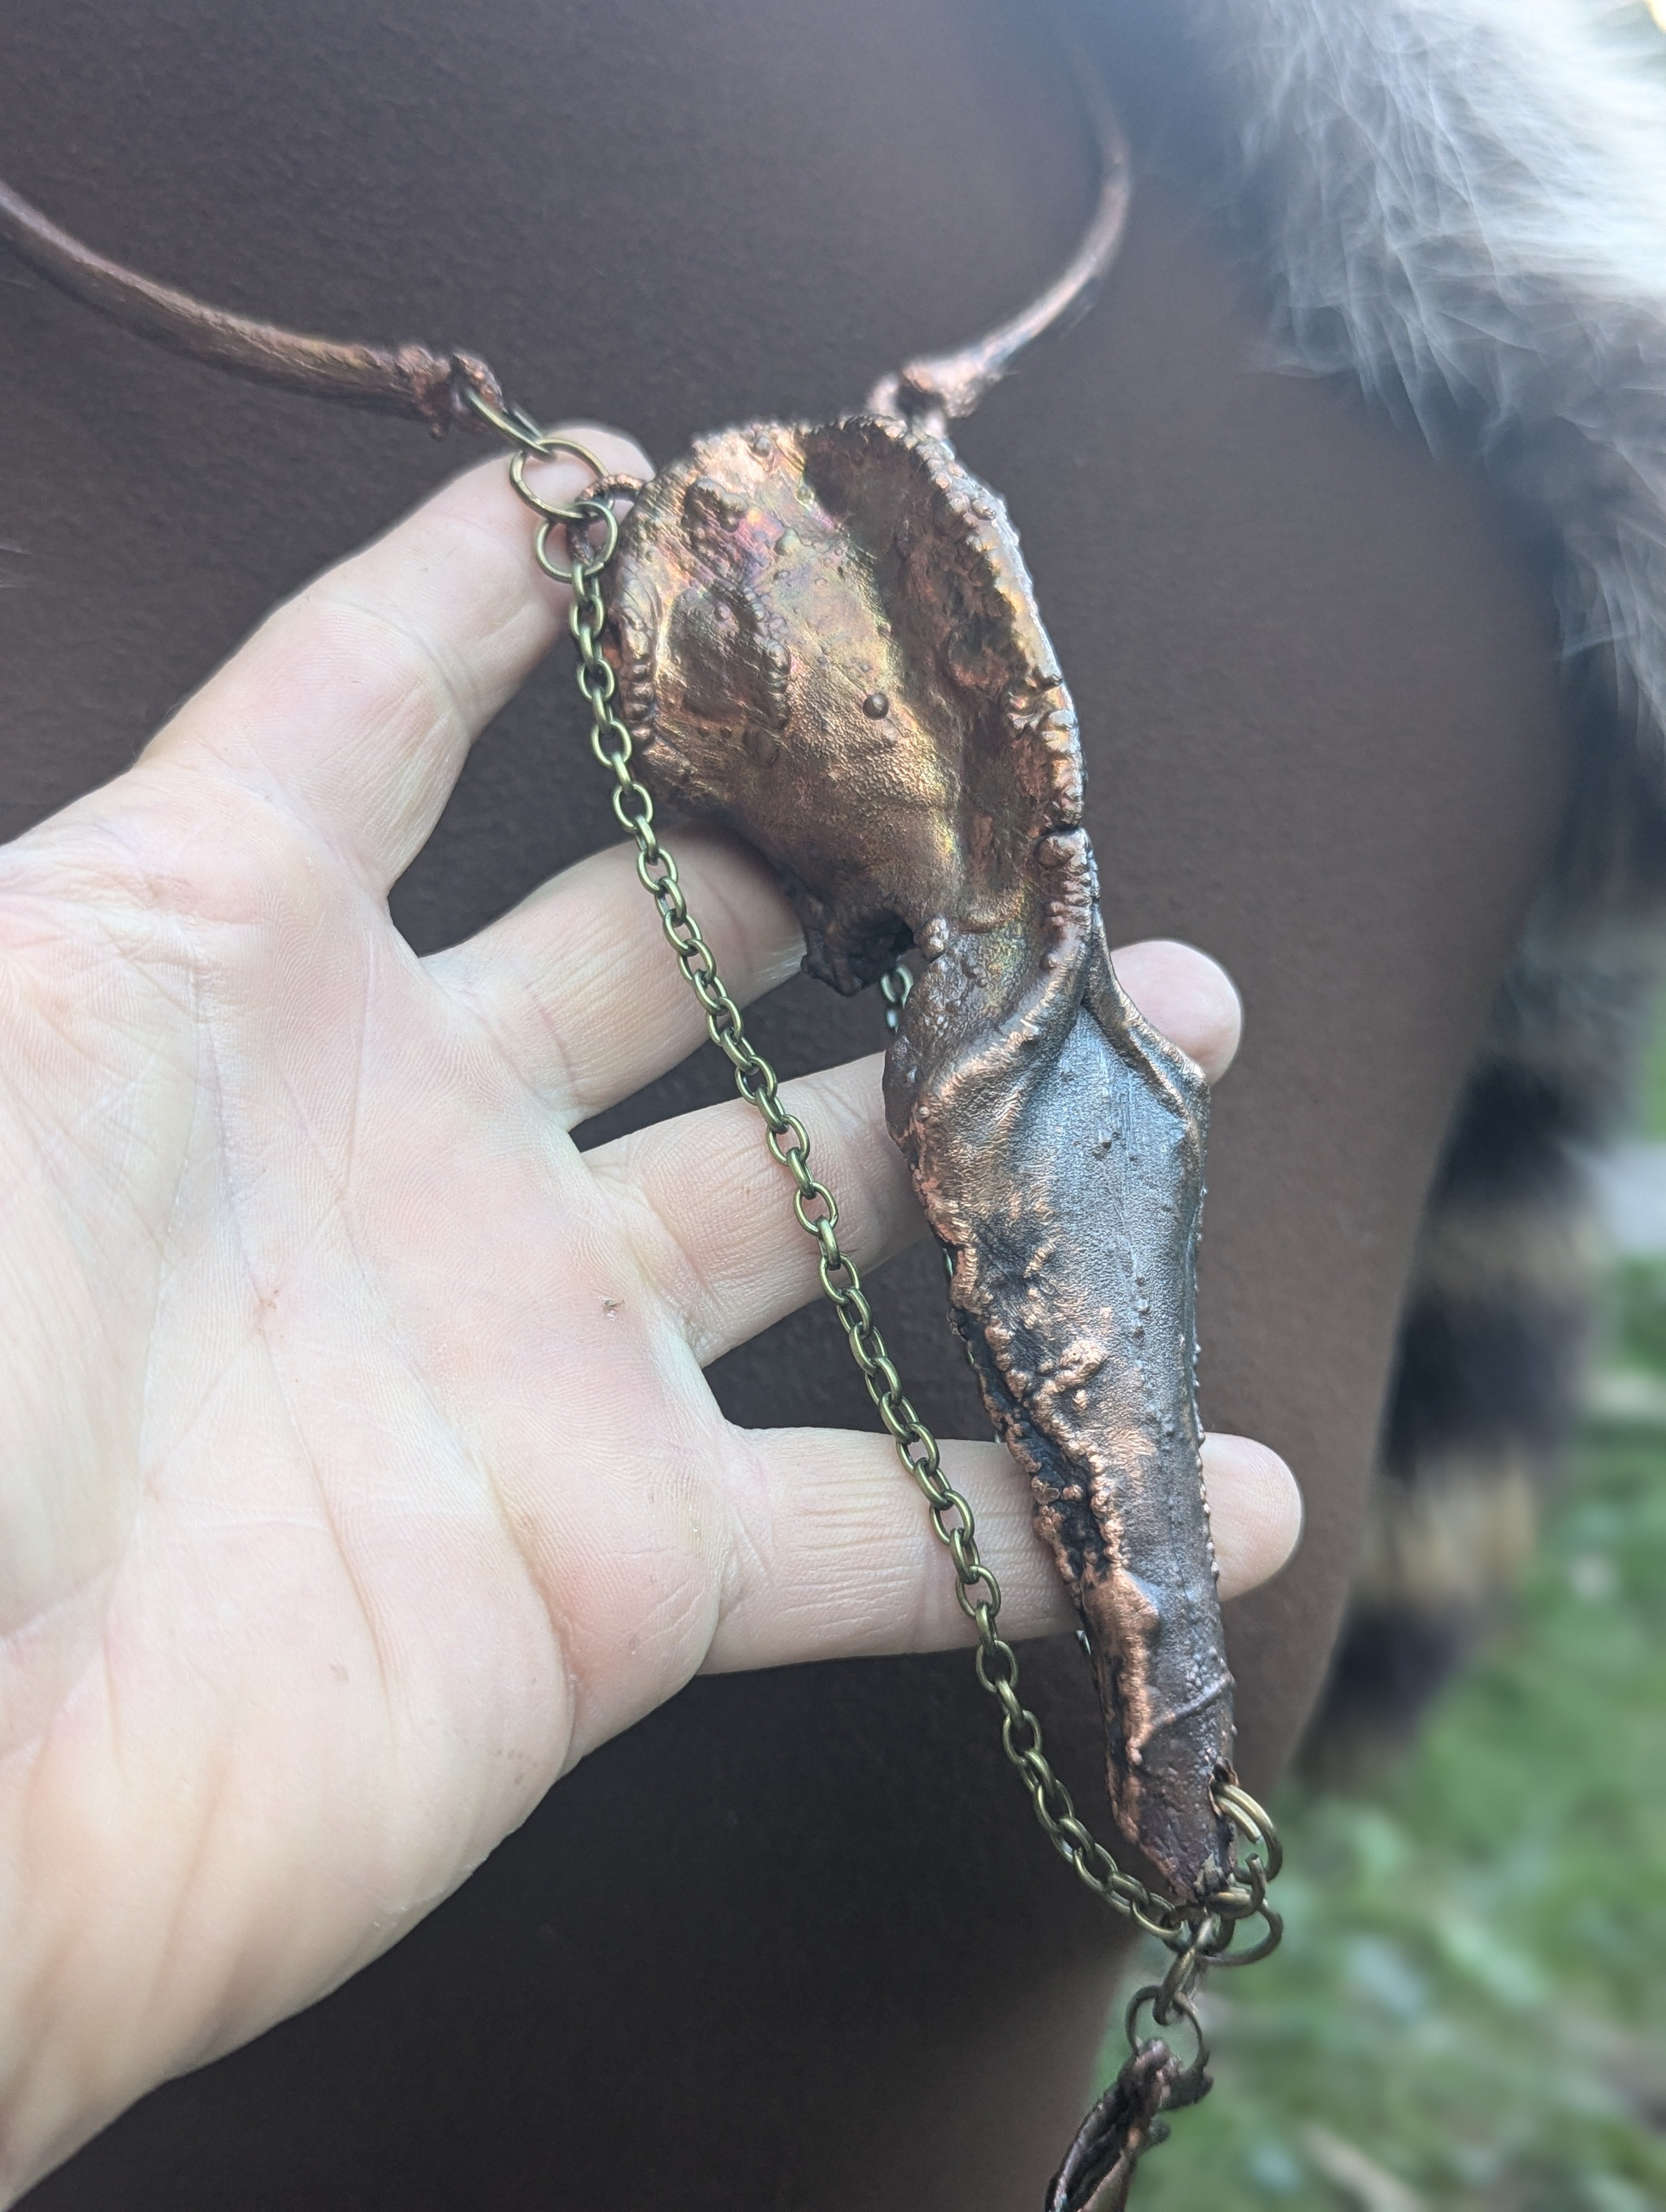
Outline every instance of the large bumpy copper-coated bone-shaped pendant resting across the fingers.
{"type": "Polygon", "coordinates": [[[858,991],[925,958],[892,1133],[1089,1632],[1117,1825],[1208,1893],[1232,1750],[1193,1378],[1208,1091],[1111,969],[1007,513],[896,418],[752,425],[646,487],[611,599],[644,781],[774,863],[805,967],[858,991]]]}

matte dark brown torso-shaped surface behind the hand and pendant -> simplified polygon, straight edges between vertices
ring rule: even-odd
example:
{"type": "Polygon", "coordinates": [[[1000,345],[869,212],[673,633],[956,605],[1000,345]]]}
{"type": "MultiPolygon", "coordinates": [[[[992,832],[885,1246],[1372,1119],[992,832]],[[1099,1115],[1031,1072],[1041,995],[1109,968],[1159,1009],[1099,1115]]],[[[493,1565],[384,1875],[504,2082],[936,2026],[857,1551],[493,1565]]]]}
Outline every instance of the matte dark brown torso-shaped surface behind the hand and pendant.
{"type": "MultiPolygon", "coordinates": [[[[1562,737],[1544,597],[1478,484],[1257,367],[1266,312],[1204,212],[1208,111],[1159,13],[1126,0],[1106,31],[1146,150],[1124,265],[962,451],[1011,502],[1075,690],[1113,938],[1193,938],[1248,1006],[1201,1334],[1210,1422],[1277,1444],[1310,1504],[1230,1621],[1266,1787],[1334,1632],[1420,1197],[1562,737]]],[[[662,458],[980,330],[1091,188],[1022,0],[11,0],[0,146],[157,276],[467,343],[538,411],[662,458]]],[[[11,265],[0,392],[7,834],[117,772],[279,593],[465,458],[150,354],[11,265]]],[[[398,918],[447,942],[608,827],[553,666],[398,918]]],[[[759,1029],[788,1066],[881,1035],[872,1000],[805,982],[759,1029]]],[[[628,1113],[719,1088],[693,1062],[628,1113]]],[[[883,1305],[927,1413],[978,1433],[925,1254],[883,1305]]],[[[721,1387],[754,1422],[867,1420],[814,1312],[721,1387]]],[[[1064,1646],[1033,1672],[1091,1798],[1084,1670],[1064,1646]]],[[[31,2208],[1011,2212],[1075,2121],[1108,1958],[965,1657],[697,1683],[387,1960],[157,2093],[31,2208]]]]}

